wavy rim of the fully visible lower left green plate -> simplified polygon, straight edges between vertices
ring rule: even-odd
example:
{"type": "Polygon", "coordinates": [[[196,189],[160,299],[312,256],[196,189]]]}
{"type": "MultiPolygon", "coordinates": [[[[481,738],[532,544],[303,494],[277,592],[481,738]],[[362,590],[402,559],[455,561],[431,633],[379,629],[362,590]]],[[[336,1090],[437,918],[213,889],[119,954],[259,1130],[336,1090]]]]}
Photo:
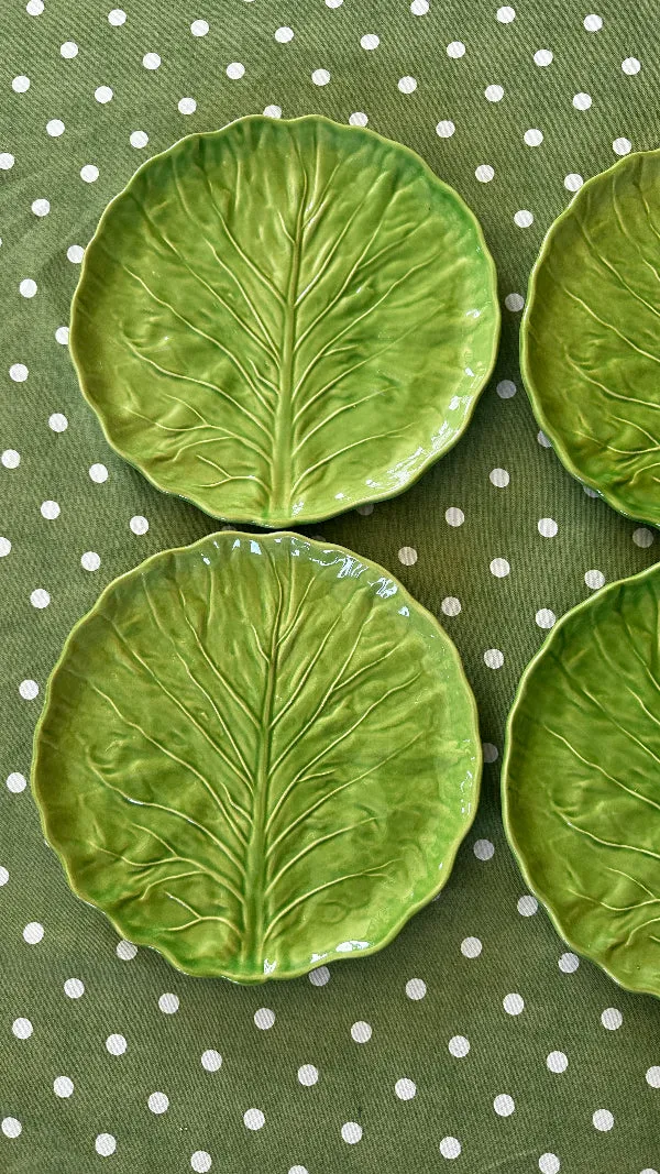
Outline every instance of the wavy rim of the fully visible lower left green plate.
{"type": "Polygon", "coordinates": [[[94,600],[92,607],[87,612],[85,612],[85,614],[82,616],[80,616],[79,620],[76,620],[76,622],[74,623],[74,626],[69,630],[69,633],[68,633],[68,635],[67,635],[67,637],[66,637],[66,640],[65,640],[65,642],[63,642],[63,645],[61,647],[61,650],[60,650],[60,653],[58,655],[58,659],[56,659],[55,663],[53,664],[53,668],[50,669],[50,673],[48,675],[48,682],[47,682],[46,690],[45,690],[45,694],[43,694],[43,706],[42,706],[41,713],[39,715],[39,718],[36,721],[36,724],[35,724],[35,728],[34,728],[34,736],[33,736],[33,742],[32,742],[32,760],[31,760],[31,769],[29,769],[29,789],[31,789],[32,798],[33,798],[33,801],[34,801],[34,803],[36,805],[36,810],[38,810],[38,814],[39,814],[39,822],[40,822],[40,825],[41,825],[41,832],[43,835],[43,838],[45,838],[48,848],[58,857],[58,859],[60,862],[60,865],[62,866],[62,869],[65,871],[66,880],[67,880],[67,884],[68,884],[70,891],[75,895],[76,898],[79,898],[80,900],[82,900],[87,906],[93,908],[93,909],[97,909],[103,915],[103,917],[107,918],[107,920],[113,925],[113,927],[116,930],[116,932],[124,940],[133,942],[134,944],[140,945],[140,946],[148,946],[150,950],[154,950],[156,953],[159,953],[163,958],[166,958],[166,960],[177,972],[184,973],[184,974],[189,974],[193,978],[207,978],[207,979],[220,979],[220,978],[222,978],[222,979],[225,979],[227,981],[233,981],[233,983],[235,983],[238,986],[256,986],[256,985],[261,985],[261,984],[263,984],[265,981],[270,981],[271,979],[275,979],[275,980],[278,980],[278,981],[288,981],[289,979],[301,978],[304,974],[310,973],[312,970],[317,970],[318,966],[326,965],[328,963],[337,963],[337,962],[344,962],[344,960],[349,962],[351,959],[365,958],[365,957],[369,957],[370,954],[378,953],[385,946],[390,945],[390,943],[393,942],[393,939],[400,933],[400,931],[403,930],[404,925],[406,925],[406,923],[417,912],[419,912],[422,909],[424,909],[426,905],[429,905],[435,899],[435,897],[437,897],[438,893],[447,884],[447,882],[449,882],[449,879],[451,877],[451,873],[453,871],[453,865],[456,863],[456,857],[458,855],[458,850],[459,850],[460,845],[464,843],[465,838],[467,837],[467,835],[470,832],[470,829],[472,828],[472,825],[474,823],[474,819],[476,819],[476,816],[477,816],[477,810],[479,808],[479,801],[480,801],[480,795],[481,795],[481,777],[483,777],[483,748],[481,748],[481,737],[480,737],[480,730],[479,730],[479,713],[478,713],[478,707],[477,707],[477,700],[476,700],[476,696],[474,696],[474,691],[473,691],[472,686],[470,684],[470,681],[469,681],[467,675],[465,673],[465,668],[463,666],[463,660],[460,657],[458,648],[457,648],[456,643],[453,642],[453,640],[451,639],[451,636],[449,635],[449,633],[445,632],[445,629],[443,628],[443,626],[439,622],[439,620],[437,619],[437,616],[433,615],[433,613],[430,612],[429,608],[424,607],[423,603],[419,603],[418,600],[416,600],[410,594],[410,592],[408,591],[408,588],[396,578],[396,575],[390,574],[389,569],[386,567],[382,567],[378,562],[373,562],[371,559],[365,558],[365,556],[363,556],[361,554],[357,554],[356,552],[349,549],[345,546],[339,546],[337,542],[321,542],[318,539],[308,538],[305,534],[297,534],[295,531],[269,531],[265,534],[251,534],[249,531],[240,531],[240,529],[235,529],[234,527],[228,527],[228,528],[222,529],[222,531],[211,531],[209,534],[203,534],[202,538],[196,539],[194,542],[187,542],[187,544],[183,544],[182,546],[168,547],[164,551],[156,551],[154,554],[150,554],[142,562],[137,564],[137,566],[132,567],[128,571],[124,571],[121,575],[117,575],[116,578],[112,579],[110,582],[103,588],[103,591],[100,592],[100,594],[96,596],[96,599],[94,600]],[[56,677],[59,676],[59,673],[60,673],[60,670],[61,670],[61,668],[62,668],[62,666],[63,666],[63,663],[65,663],[65,661],[66,661],[66,659],[68,656],[69,646],[73,643],[74,639],[78,636],[79,632],[83,628],[83,626],[87,623],[87,621],[96,613],[96,609],[100,606],[102,606],[102,603],[106,600],[106,598],[117,587],[117,585],[126,583],[126,582],[129,582],[133,579],[139,578],[140,575],[142,575],[144,573],[144,571],[148,567],[150,567],[153,564],[157,562],[160,559],[163,559],[163,558],[173,555],[173,554],[183,554],[183,553],[191,552],[191,551],[198,548],[200,546],[202,546],[203,544],[208,542],[210,539],[216,538],[218,534],[227,535],[228,538],[242,538],[242,539],[249,538],[249,539],[254,539],[256,541],[274,541],[275,539],[282,539],[282,538],[292,539],[294,538],[294,539],[296,539],[299,542],[311,544],[312,547],[321,547],[322,549],[338,551],[341,554],[348,554],[351,558],[357,559],[359,562],[363,562],[366,566],[372,567],[377,572],[384,572],[388,575],[388,578],[391,579],[396,583],[397,589],[398,589],[398,592],[400,592],[404,602],[408,603],[408,605],[412,605],[412,607],[415,608],[415,610],[422,612],[423,615],[429,621],[431,621],[431,626],[435,629],[437,629],[437,632],[439,633],[439,635],[442,636],[442,639],[446,642],[446,647],[447,647],[447,649],[450,652],[450,655],[451,655],[451,657],[453,660],[453,663],[454,663],[454,668],[457,670],[457,680],[460,682],[460,687],[464,690],[465,699],[466,699],[466,702],[467,702],[467,706],[469,706],[469,709],[470,709],[471,734],[472,734],[472,740],[473,740],[473,744],[474,744],[474,781],[473,781],[472,811],[470,812],[470,816],[467,817],[466,822],[464,823],[462,835],[454,839],[454,842],[451,845],[450,851],[447,852],[447,855],[445,857],[445,862],[446,862],[447,866],[442,869],[442,875],[440,875],[440,879],[438,882],[437,888],[433,888],[432,890],[430,890],[429,893],[425,895],[419,902],[408,903],[408,904],[404,903],[402,905],[402,916],[396,922],[395,927],[388,935],[385,935],[383,938],[379,938],[378,942],[372,943],[370,946],[368,946],[365,950],[359,950],[359,951],[356,951],[355,953],[353,952],[345,952],[345,953],[343,953],[343,952],[342,953],[334,952],[334,953],[329,954],[328,958],[321,958],[321,959],[318,959],[318,962],[309,964],[309,965],[305,964],[305,965],[303,965],[301,967],[296,969],[296,970],[288,971],[285,974],[283,974],[283,973],[271,973],[271,974],[255,973],[250,978],[244,978],[244,979],[243,978],[236,979],[235,977],[233,977],[233,976],[230,977],[230,976],[224,974],[222,972],[218,972],[217,974],[204,974],[204,973],[200,973],[200,971],[183,967],[176,960],[176,958],[174,957],[174,954],[168,949],[161,947],[160,945],[159,946],[153,945],[147,939],[148,935],[146,937],[142,936],[142,935],[135,936],[135,933],[127,935],[124,932],[124,930],[122,929],[121,917],[112,916],[110,913],[108,913],[108,911],[102,905],[97,904],[96,902],[90,900],[89,897],[83,896],[83,893],[80,891],[80,889],[78,888],[76,883],[74,882],[72,871],[69,869],[68,858],[50,841],[50,837],[48,835],[48,826],[47,826],[46,804],[43,804],[42,801],[41,801],[41,798],[40,798],[39,788],[38,788],[38,783],[36,783],[38,761],[39,761],[39,750],[40,750],[40,741],[41,741],[42,726],[45,724],[46,715],[47,715],[48,709],[49,709],[53,687],[54,687],[56,677]]]}

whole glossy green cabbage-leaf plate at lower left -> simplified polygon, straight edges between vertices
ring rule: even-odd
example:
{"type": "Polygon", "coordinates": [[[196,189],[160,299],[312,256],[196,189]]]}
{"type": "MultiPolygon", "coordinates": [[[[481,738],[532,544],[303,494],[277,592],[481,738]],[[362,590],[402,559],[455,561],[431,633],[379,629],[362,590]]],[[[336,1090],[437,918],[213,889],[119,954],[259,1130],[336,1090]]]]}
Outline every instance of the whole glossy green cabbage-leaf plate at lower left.
{"type": "Polygon", "coordinates": [[[122,935],[250,983],[385,945],[447,879],[479,771],[458,653],[386,571],[225,531],[74,628],[33,788],[122,935]]]}

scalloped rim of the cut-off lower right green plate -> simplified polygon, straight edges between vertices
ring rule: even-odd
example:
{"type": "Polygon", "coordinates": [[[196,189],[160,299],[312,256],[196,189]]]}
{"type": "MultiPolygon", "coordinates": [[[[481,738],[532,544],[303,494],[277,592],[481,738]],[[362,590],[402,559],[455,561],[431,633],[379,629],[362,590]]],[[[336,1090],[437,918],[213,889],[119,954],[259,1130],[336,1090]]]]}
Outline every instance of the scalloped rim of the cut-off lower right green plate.
{"type": "Polygon", "coordinates": [[[619,978],[619,976],[611,966],[606,965],[601,960],[598,951],[590,950],[581,943],[578,944],[575,939],[572,937],[572,935],[566,932],[563,925],[561,915],[554,909],[552,899],[546,897],[541,892],[541,886],[539,886],[536,882],[532,882],[523,850],[513,832],[510,802],[509,802],[509,787],[507,787],[509,763],[512,756],[512,747],[514,742],[513,723],[516,720],[516,715],[518,713],[518,709],[521,707],[524,702],[530,677],[532,676],[537,664],[543,660],[545,653],[548,650],[550,646],[552,645],[552,641],[557,636],[557,633],[561,632],[563,628],[567,626],[568,621],[573,619],[573,616],[580,614],[581,612],[586,612],[591,606],[593,606],[595,600],[601,600],[607,594],[614,594],[614,592],[620,589],[626,583],[639,582],[640,580],[651,578],[654,572],[660,573],[660,562],[653,562],[649,567],[645,567],[642,571],[635,572],[634,575],[624,575],[620,579],[615,579],[613,580],[613,582],[610,582],[606,586],[600,587],[597,592],[594,592],[593,595],[588,595],[579,603],[575,603],[574,607],[568,608],[568,610],[565,612],[564,615],[560,616],[557,623],[552,627],[551,632],[543,641],[540,648],[534,653],[531,661],[526,664],[518,681],[513,702],[511,704],[511,709],[509,710],[509,716],[506,718],[506,727],[504,734],[504,751],[501,756],[500,797],[501,797],[501,822],[509,846],[511,848],[516,863],[520,870],[523,879],[525,880],[525,883],[530,889],[530,892],[532,892],[540,900],[543,908],[545,909],[546,913],[550,917],[550,920],[554,930],[557,931],[561,940],[565,942],[566,945],[571,946],[571,949],[581,958],[587,958],[590,962],[595,963],[595,965],[599,966],[600,970],[602,970],[608,978],[613,979],[613,981],[617,983],[617,985],[620,986],[621,990],[629,991],[633,994],[651,994],[654,996],[655,998],[660,998],[660,984],[658,990],[654,991],[642,983],[635,984],[635,983],[624,981],[621,978],[619,978]]]}

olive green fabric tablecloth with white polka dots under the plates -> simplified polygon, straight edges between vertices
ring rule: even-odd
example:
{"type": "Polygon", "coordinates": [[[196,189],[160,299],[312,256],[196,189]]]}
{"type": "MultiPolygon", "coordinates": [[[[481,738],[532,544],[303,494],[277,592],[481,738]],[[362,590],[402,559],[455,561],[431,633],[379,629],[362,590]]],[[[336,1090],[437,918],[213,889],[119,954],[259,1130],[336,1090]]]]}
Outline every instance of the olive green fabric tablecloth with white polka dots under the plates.
{"type": "Polygon", "coordinates": [[[517,359],[530,266],[581,183],[658,146],[652,0],[5,0],[0,62],[0,1169],[654,1174],[660,1006],[525,891],[498,801],[516,683],[558,616],[656,558],[564,471],[517,359]],[[460,444],[310,533],[445,625],[485,772],[440,897],[380,954],[285,984],[187,978],[69,892],[26,780],[48,673],[117,574],[213,520],[120,460],[79,393],[69,303],[150,154],[310,112],[419,154],[481,220],[503,342],[460,444]]]}

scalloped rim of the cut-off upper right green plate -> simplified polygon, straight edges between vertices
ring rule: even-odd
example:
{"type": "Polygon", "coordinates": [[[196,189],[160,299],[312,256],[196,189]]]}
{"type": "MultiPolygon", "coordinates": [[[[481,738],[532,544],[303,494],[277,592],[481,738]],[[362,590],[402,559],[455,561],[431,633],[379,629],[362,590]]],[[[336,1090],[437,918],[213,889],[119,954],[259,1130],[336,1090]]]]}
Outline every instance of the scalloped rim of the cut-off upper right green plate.
{"type": "MultiPolygon", "coordinates": [[[[540,397],[534,386],[534,380],[531,373],[530,366],[530,317],[531,308],[534,303],[537,296],[537,281],[539,271],[547,259],[550,249],[552,247],[552,239],[557,229],[564,225],[564,223],[570,220],[571,214],[574,211],[575,203],[584,200],[582,193],[590,191],[593,187],[598,187],[600,181],[605,176],[613,175],[614,171],[624,171],[632,162],[638,162],[641,157],[648,155],[656,155],[660,158],[660,147],[652,150],[635,150],[631,151],[628,155],[624,155],[622,158],[617,160],[610,167],[606,167],[602,171],[597,171],[595,175],[590,176],[588,180],[581,184],[578,191],[574,194],[573,198],[568,201],[566,207],[559,212],[559,215],[553,220],[552,224],[547,229],[537,255],[537,258],[530,270],[530,276],[527,278],[527,297],[525,299],[525,309],[523,311],[523,318],[520,322],[520,342],[519,342],[519,360],[520,360],[520,376],[523,378],[523,384],[525,391],[527,392],[527,398],[532,406],[532,412],[540,425],[543,431],[550,439],[553,451],[559,457],[564,468],[573,477],[580,485],[586,485],[591,490],[598,493],[598,497],[606,501],[608,506],[620,513],[624,518],[629,518],[631,521],[646,521],[651,526],[660,526],[660,504],[655,511],[651,511],[648,514],[635,513],[631,511],[629,506],[625,500],[625,495],[621,497],[615,490],[604,490],[600,481],[597,478],[587,477],[581,472],[573,458],[570,456],[567,448],[564,445],[561,437],[558,437],[554,430],[548,425],[547,418],[545,416],[540,397]]],[[[628,576],[632,578],[632,576],[628,576]]]]}

